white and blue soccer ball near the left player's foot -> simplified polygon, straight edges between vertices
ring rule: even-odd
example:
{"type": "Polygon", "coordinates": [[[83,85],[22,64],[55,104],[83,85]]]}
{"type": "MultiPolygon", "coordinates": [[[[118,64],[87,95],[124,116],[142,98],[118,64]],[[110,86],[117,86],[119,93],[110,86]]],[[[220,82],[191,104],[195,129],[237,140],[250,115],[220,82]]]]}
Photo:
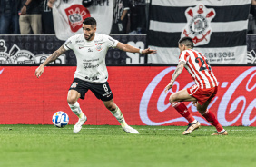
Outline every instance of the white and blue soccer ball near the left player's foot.
{"type": "Polygon", "coordinates": [[[53,116],[53,123],[58,128],[63,128],[65,125],[68,124],[69,117],[66,113],[59,111],[54,113],[53,116]]]}

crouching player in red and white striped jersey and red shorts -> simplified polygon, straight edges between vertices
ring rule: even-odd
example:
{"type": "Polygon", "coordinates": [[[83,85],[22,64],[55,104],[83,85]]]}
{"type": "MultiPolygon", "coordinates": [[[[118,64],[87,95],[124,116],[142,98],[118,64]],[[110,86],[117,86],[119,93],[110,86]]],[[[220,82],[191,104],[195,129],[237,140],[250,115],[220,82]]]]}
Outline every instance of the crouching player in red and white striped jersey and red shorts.
{"type": "Polygon", "coordinates": [[[193,81],[196,83],[191,88],[183,89],[177,93],[172,93],[169,98],[172,107],[180,113],[189,122],[188,128],[182,133],[184,135],[192,133],[192,131],[200,128],[201,124],[195,120],[189,112],[186,105],[182,102],[193,102],[199,113],[213,126],[216,127],[217,133],[212,135],[227,135],[222,125],[218,122],[215,115],[207,109],[212,98],[218,92],[217,79],[212,72],[212,68],[206,57],[193,48],[192,38],[183,37],[179,41],[179,49],[181,51],[179,64],[172,75],[171,82],[165,87],[165,93],[172,88],[176,78],[182,73],[185,67],[191,74],[193,81]]]}

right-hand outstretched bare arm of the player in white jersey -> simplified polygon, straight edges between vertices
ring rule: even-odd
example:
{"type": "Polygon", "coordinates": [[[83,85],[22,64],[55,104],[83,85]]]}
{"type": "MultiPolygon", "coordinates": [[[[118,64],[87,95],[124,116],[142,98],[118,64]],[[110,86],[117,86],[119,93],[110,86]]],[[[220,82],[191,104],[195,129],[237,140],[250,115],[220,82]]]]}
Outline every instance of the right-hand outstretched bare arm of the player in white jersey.
{"type": "Polygon", "coordinates": [[[130,52],[130,53],[140,53],[140,54],[156,54],[156,50],[152,50],[150,48],[147,49],[139,49],[136,47],[133,47],[130,44],[123,44],[123,43],[118,43],[116,45],[116,48],[125,51],[125,52],[130,52]]]}

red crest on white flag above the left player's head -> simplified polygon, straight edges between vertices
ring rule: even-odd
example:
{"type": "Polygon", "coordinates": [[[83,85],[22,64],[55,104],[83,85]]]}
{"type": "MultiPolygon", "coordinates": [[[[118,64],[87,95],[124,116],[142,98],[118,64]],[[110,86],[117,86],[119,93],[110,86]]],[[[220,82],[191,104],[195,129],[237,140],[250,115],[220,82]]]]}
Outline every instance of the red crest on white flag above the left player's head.
{"type": "Polygon", "coordinates": [[[90,11],[83,5],[71,5],[64,9],[64,11],[67,15],[71,31],[74,33],[82,28],[84,19],[91,16],[90,11]]]}

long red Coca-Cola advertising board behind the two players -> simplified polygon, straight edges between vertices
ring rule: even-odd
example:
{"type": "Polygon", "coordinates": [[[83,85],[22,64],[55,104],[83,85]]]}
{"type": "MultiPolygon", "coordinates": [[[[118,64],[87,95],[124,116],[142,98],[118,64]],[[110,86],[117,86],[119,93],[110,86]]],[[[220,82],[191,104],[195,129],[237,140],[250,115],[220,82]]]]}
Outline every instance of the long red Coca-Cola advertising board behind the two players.
{"type": "MultiPolygon", "coordinates": [[[[38,79],[35,66],[1,66],[0,124],[51,124],[57,111],[64,111],[70,123],[77,117],[66,102],[74,79],[74,66],[49,66],[38,79]]],[[[209,108],[223,126],[256,126],[256,67],[212,67],[219,91],[209,108]]],[[[165,94],[175,67],[108,67],[114,102],[131,125],[186,125],[187,122],[168,102],[171,93],[191,87],[191,76],[184,70],[172,90],[165,94]]],[[[78,101],[88,124],[119,124],[103,103],[90,91],[78,101]]],[[[192,103],[185,103],[203,125],[210,125],[192,103]]]]}

